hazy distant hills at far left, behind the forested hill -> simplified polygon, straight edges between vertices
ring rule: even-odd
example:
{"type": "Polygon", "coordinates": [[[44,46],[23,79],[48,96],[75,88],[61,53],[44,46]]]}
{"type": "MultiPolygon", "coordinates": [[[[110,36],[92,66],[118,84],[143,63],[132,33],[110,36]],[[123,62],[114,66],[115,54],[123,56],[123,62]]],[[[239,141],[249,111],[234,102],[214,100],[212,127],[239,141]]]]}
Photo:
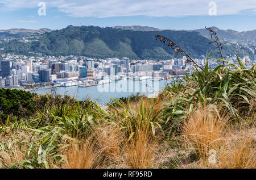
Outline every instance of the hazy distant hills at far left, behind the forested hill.
{"type": "Polygon", "coordinates": [[[52,30],[48,28],[41,28],[40,30],[27,30],[27,29],[19,29],[19,28],[13,28],[10,30],[0,30],[0,40],[3,39],[11,39],[16,38],[20,36],[28,36],[36,32],[51,32],[52,30]]]}

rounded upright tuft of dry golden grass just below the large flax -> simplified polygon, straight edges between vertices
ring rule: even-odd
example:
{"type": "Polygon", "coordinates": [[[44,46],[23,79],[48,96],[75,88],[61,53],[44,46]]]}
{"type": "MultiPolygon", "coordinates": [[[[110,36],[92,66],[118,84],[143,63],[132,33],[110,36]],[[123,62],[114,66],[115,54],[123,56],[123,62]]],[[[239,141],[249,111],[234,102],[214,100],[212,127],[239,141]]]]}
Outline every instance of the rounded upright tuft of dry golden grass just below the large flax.
{"type": "Polygon", "coordinates": [[[196,149],[199,157],[205,160],[210,149],[218,149],[224,141],[227,119],[219,119],[218,114],[209,107],[199,108],[184,120],[185,141],[196,149]]]}

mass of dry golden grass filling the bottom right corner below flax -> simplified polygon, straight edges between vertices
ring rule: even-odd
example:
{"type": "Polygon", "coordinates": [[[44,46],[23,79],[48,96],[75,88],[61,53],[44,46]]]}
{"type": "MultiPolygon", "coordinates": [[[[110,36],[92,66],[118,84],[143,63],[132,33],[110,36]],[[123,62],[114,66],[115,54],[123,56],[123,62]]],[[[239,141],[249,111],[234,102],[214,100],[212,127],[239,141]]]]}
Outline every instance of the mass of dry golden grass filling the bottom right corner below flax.
{"type": "Polygon", "coordinates": [[[218,118],[209,107],[184,120],[184,142],[196,150],[201,168],[256,168],[254,133],[232,127],[227,114],[218,118]]]}

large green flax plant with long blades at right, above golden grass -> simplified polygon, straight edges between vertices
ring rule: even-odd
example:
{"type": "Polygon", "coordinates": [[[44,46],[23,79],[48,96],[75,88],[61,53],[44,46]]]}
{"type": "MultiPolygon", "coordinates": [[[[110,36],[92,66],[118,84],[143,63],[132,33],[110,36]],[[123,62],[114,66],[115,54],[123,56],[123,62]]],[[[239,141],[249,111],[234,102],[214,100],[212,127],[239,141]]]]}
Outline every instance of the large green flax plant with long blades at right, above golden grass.
{"type": "Polygon", "coordinates": [[[176,98],[168,101],[160,112],[168,127],[171,123],[172,128],[177,128],[180,120],[199,106],[216,107],[218,104],[230,112],[233,120],[239,119],[241,115],[255,115],[255,65],[246,69],[244,62],[237,56],[239,66],[229,63],[209,70],[209,55],[204,70],[196,69],[192,76],[183,80],[183,86],[179,82],[177,85],[166,87],[167,92],[176,93],[176,98]]]}

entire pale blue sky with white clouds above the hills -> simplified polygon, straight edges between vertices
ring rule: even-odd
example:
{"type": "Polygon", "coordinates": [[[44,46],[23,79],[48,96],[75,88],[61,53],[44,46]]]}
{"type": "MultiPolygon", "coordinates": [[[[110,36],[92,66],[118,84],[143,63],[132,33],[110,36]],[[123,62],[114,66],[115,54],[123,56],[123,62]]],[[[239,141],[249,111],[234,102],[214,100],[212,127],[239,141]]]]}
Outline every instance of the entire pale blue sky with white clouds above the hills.
{"type": "Polygon", "coordinates": [[[256,29],[256,0],[0,0],[0,30],[73,26],[256,29]]]}

